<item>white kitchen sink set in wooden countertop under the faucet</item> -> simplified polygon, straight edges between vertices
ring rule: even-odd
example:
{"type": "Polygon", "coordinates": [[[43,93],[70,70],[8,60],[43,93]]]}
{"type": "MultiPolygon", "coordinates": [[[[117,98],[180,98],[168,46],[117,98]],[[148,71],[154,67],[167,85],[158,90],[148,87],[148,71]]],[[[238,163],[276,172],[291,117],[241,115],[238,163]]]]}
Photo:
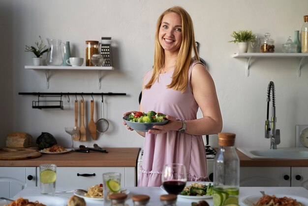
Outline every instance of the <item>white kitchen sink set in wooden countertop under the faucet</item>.
{"type": "Polygon", "coordinates": [[[250,159],[308,159],[308,148],[290,147],[290,148],[260,148],[243,147],[237,148],[250,159]]]}

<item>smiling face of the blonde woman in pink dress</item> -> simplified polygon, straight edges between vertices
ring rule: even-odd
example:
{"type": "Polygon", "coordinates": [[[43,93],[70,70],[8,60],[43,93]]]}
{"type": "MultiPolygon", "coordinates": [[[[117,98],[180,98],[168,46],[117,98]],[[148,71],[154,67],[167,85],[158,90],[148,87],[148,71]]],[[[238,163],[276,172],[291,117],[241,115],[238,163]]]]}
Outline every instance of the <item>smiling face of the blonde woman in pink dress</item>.
{"type": "Polygon", "coordinates": [[[161,21],[159,43],[165,51],[178,52],[182,44],[182,18],[170,12],[161,21]]]}

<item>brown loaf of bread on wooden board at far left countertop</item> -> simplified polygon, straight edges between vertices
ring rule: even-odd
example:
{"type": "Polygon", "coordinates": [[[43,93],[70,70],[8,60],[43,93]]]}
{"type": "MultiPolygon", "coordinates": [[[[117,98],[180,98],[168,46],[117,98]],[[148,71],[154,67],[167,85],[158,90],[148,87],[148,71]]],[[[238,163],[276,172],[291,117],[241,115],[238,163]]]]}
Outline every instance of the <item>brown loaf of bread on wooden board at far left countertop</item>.
{"type": "Polygon", "coordinates": [[[28,133],[10,133],[6,137],[6,147],[30,147],[32,136],[28,133]]]}

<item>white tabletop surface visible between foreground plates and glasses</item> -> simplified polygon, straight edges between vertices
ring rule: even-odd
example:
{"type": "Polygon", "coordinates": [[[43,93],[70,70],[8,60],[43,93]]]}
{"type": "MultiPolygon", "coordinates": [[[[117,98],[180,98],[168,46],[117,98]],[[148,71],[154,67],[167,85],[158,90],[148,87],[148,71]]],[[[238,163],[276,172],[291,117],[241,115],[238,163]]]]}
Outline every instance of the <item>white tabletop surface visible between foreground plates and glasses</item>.
{"type": "MultiPolygon", "coordinates": [[[[70,191],[76,188],[73,187],[57,187],[57,191],[70,191]]],[[[126,204],[129,206],[133,206],[133,202],[131,200],[132,195],[137,194],[146,194],[151,197],[149,206],[160,206],[159,196],[163,194],[167,194],[160,187],[125,187],[130,191],[128,194],[128,198],[126,200],[126,204]]],[[[251,195],[261,195],[259,191],[264,191],[266,194],[283,194],[283,195],[293,195],[298,197],[307,198],[307,202],[302,202],[305,206],[308,206],[308,190],[304,187],[241,187],[240,188],[240,205],[245,206],[241,200],[245,199],[251,195]]],[[[73,193],[57,193],[56,197],[62,197],[65,199],[69,199],[73,193]]],[[[15,197],[29,197],[29,196],[41,196],[39,187],[27,187],[21,192],[19,192],[15,197]]],[[[198,202],[199,200],[190,200],[184,198],[178,198],[177,206],[191,206],[192,202],[198,202]]],[[[206,199],[210,206],[213,205],[213,199],[206,199]]],[[[102,206],[102,201],[87,201],[87,206],[102,206]]]]}

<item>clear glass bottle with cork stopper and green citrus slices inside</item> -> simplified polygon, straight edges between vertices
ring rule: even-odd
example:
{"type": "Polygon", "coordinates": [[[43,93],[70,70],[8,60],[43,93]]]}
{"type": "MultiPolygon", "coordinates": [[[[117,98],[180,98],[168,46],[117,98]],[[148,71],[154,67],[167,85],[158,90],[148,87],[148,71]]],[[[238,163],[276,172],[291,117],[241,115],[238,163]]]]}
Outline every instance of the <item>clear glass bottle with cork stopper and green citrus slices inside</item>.
{"type": "Polygon", "coordinates": [[[214,160],[214,206],[239,204],[240,159],[234,142],[235,134],[218,134],[219,151],[214,160]]]}

